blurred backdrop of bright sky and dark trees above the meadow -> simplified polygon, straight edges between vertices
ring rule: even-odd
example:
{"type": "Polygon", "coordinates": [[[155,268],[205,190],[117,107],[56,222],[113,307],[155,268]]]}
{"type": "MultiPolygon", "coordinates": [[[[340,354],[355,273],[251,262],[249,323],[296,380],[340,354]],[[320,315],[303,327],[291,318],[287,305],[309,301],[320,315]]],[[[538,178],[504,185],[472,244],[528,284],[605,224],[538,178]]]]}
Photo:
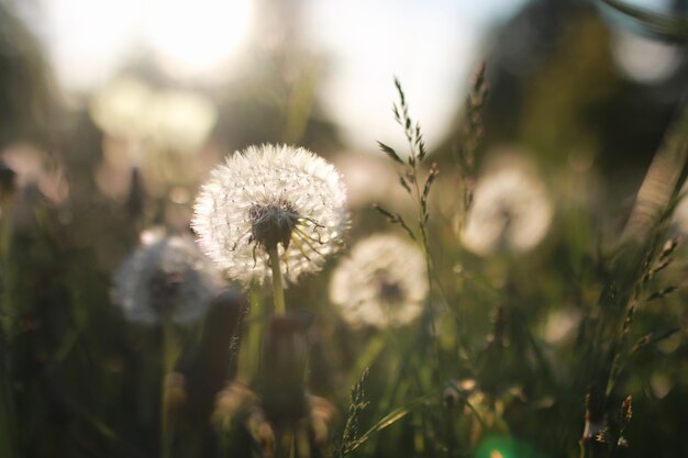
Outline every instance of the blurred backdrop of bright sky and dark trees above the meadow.
{"type": "MultiPolygon", "coordinates": [[[[98,190],[121,198],[129,178],[118,171],[142,166],[151,148],[175,145],[206,157],[193,160],[202,168],[260,142],[346,152],[343,161],[376,139],[399,147],[389,122],[397,76],[441,158],[485,60],[486,149],[524,147],[557,168],[601,174],[599,186],[629,183],[612,190],[621,197],[676,111],[686,63],[680,32],[643,29],[620,3],[4,0],[0,139],[56,157],[65,148],[55,142],[92,123],[108,147],[73,159],[93,163],[98,190]]],[[[659,14],[685,8],[646,3],[628,2],[659,14]]],[[[203,175],[179,177],[184,168],[167,171],[203,175]]]]}

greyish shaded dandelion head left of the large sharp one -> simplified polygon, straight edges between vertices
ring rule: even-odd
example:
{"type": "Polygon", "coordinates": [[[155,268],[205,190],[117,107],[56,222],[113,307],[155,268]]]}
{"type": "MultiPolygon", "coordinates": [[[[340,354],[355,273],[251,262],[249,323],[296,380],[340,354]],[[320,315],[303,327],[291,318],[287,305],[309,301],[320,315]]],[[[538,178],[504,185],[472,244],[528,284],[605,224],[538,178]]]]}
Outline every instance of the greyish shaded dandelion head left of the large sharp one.
{"type": "Polygon", "coordinates": [[[222,287],[220,272],[191,237],[147,232],[114,276],[114,300],[127,320],[200,319],[222,287]]]}

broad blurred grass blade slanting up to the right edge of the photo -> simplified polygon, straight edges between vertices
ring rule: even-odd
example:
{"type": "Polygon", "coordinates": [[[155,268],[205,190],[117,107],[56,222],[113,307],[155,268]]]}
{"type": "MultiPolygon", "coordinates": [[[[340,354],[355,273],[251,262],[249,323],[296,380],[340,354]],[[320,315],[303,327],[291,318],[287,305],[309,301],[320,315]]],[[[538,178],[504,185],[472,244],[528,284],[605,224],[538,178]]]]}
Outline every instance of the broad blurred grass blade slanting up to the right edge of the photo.
{"type": "MultiPolygon", "coordinates": [[[[687,125],[688,110],[685,110],[667,132],[664,144],[653,158],[624,227],[611,279],[600,294],[597,305],[600,316],[584,360],[587,368],[580,372],[585,382],[593,387],[593,390],[601,390],[600,394],[588,395],[588,412],[590,409],[599,409],[606,414],[604,410],[610,406],[621,371],[639,345],[644,345],[643,342],[656,342],[659,336],[672,334],[659,333],[659,336],[645,336],[634,345],[631,343],[637,309],[647,300],[664,297],[675,290],[669,287],[646,293],[648,279],[666,268],[677,246],[676,242],[665,242],[665,238],[667,224],[680,199],[680,178],[685,177],[688,159],[687,125]],[[593,402],[597,398],[601,399],[593,402]]],[[[586,422],[590,423],[589,420],[586,422]]],[[[610,456],[615,450],[622,437],[607,437],[609,426],[606,424],[600,429],[601,433],[593,437],[586,437],[584,434],[580,443],[581,458],[610,456]],[[607,443],[610,445],[603,447],[607,443]]]]}

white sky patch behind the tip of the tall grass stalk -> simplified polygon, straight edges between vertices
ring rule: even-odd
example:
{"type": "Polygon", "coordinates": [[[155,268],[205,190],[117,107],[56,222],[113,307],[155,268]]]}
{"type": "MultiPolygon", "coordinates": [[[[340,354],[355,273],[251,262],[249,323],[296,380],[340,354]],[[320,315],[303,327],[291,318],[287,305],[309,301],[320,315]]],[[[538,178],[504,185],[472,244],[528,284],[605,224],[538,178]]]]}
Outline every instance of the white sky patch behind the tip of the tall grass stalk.
{"type": "Polygon", "coordinates": [[[522,0],[311,0],[309,35],[332,54],[323,87],[330,114],[364,149],[403,145],[391,114],[398,76],[426,143],[442,141],[490,25],[522,0]]]}

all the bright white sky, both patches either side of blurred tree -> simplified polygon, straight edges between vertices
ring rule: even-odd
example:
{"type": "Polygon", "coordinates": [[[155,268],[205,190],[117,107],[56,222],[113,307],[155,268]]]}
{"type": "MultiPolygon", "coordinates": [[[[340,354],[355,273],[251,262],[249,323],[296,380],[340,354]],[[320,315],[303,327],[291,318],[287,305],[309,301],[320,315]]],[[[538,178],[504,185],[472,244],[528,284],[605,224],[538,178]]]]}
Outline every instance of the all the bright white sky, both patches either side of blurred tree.
{"type": "MultiPolygon", "coordinates": [[[[37,0],[24,15],[67,90],[104,85],[142,48],[188,77],[230,68],[256,20],[252,0],[37,0]]],[[[402,145],[392,76],[430,147],[442,139],[490,25],[524,0],[303,0],[308,45],[330,55],[322,99],[357,147],[402,145]]],[[[20,2],[21,5],[21,2],[20,2]]]]}

